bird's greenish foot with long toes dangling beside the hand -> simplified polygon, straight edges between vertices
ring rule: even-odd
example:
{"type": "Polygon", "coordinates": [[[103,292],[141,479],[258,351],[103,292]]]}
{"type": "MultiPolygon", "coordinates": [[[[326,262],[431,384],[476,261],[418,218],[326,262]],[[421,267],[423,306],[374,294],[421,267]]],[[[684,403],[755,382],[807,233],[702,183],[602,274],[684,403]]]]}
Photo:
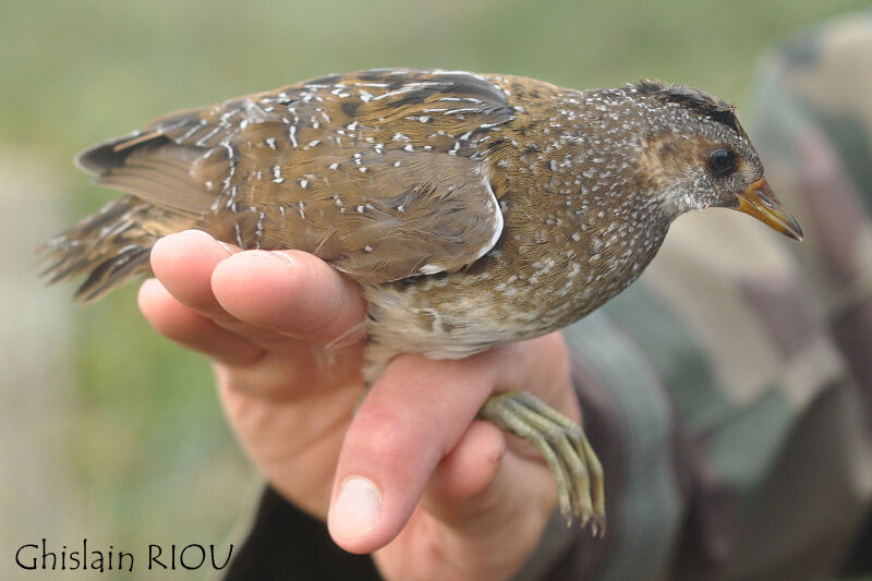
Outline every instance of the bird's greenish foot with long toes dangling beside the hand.
{"type": "Polygon", "coordinates": [[[594,536],[605,534],[603,467],[579,425],[526,391],[492,396],[479,417],[535,446],[557,482],[568,525],[578,517],[582,526],[591,522],[594,536]]]}

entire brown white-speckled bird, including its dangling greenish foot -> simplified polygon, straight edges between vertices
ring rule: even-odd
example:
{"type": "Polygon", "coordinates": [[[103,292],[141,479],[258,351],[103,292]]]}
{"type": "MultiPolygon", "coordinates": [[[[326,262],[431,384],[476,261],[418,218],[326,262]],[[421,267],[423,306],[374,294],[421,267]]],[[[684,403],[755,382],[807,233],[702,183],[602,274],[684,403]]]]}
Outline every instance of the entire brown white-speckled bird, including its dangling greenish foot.
{"type": "MultiPolygon", "coordinates": [[[[514,75],[331,74],[158,118],[78,166],[125,195],[44,245],[92,302],[169,233],[307,251],[368,303],[371,386],[400,353],[461,359],[560,329],[632,283],[678,216],[734,208],[796,239],[735,107],[642,80],[576,90],[514,75]]],[[[532,443],[568,522],[605,531],[583,429],[528,391],[479,417],[532,443]]]]}

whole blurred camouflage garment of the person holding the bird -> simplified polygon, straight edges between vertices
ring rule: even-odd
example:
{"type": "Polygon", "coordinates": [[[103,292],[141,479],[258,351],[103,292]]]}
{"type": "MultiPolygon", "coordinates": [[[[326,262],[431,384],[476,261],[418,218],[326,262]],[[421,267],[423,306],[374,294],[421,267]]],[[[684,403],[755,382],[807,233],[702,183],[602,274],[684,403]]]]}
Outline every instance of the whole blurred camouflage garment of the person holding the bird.
{"type": "Polygon", "coordinates": [[[566,331],[608,534],[543,579],[832,578],[872,506],[872,19],[779,48],[752,133],[795,244],[680,219],[642,279],[566,331]]]}

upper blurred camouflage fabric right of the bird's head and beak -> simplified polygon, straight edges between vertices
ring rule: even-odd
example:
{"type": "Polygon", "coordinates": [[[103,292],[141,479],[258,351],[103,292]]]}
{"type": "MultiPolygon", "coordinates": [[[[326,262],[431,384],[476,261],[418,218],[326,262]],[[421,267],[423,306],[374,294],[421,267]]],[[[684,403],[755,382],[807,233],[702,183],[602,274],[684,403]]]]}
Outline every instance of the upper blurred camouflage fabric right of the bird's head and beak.
{"type": "Polygon", "coordinates": [[[756,140],[811,244],[799,249],[852,372],[872,390],[872,12],[792,39],[761,66],[756,140]]]}

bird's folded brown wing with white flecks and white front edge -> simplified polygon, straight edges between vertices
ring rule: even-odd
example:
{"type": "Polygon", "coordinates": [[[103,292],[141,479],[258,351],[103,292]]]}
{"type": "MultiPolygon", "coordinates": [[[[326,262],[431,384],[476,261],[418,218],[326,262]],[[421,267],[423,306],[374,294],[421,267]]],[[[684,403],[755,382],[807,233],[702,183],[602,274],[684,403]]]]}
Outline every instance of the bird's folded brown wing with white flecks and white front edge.
{"type": "Polygon", "coordinates": [[[78,162],[218,238],[305,250],[377,283],[494,246],[502,216],[485,161],[513,114],[479,75],[364,71],[173,113],[78,162]]]}

